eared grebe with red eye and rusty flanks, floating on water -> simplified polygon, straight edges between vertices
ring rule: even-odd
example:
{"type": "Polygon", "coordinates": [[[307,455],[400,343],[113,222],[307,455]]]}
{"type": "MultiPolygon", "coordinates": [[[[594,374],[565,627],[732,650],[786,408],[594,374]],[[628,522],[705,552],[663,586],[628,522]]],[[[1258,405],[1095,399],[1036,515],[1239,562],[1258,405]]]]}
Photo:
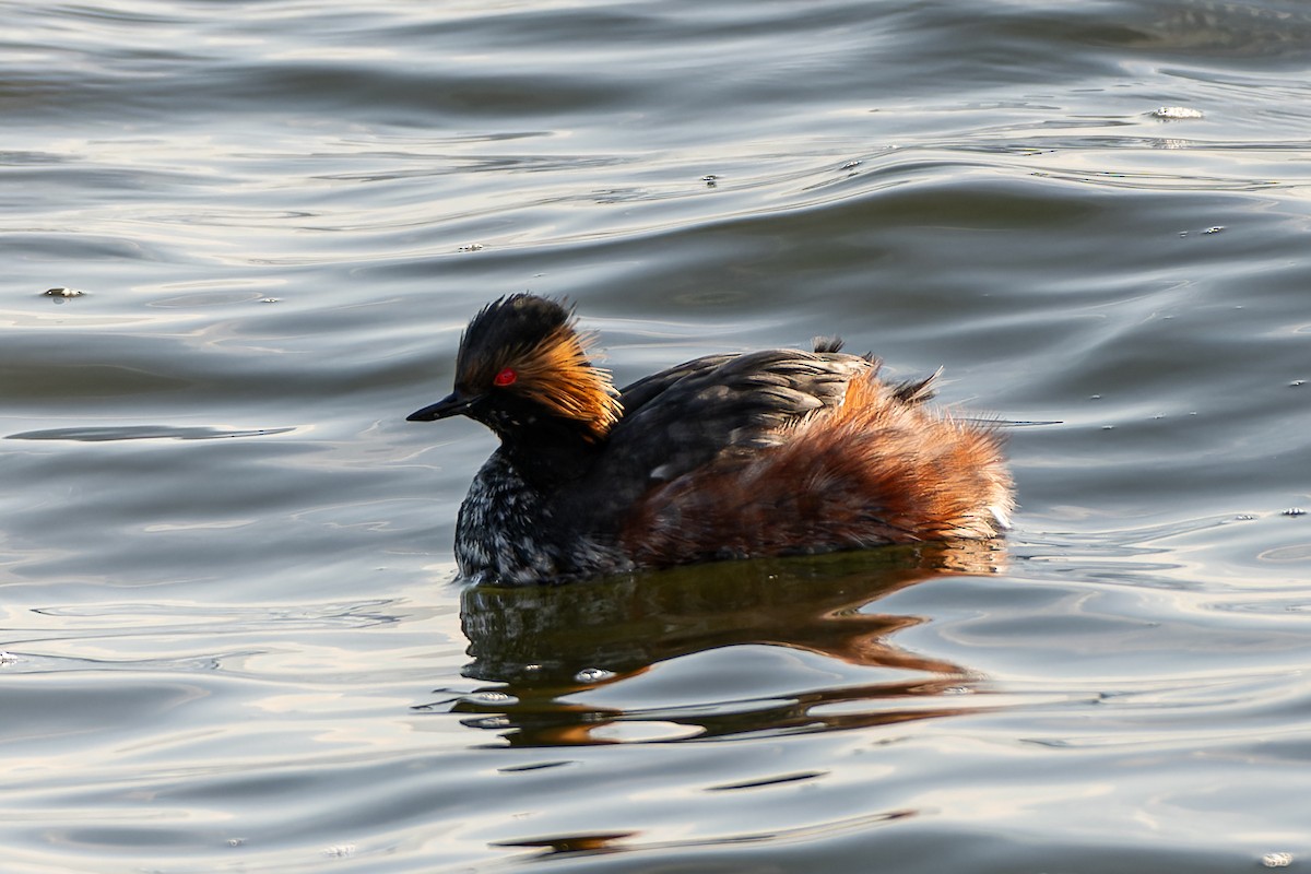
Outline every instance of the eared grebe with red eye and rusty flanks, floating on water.
{"type": "Polygon", "coordinates": [[[522,584],[684,562],[994,537],[1011,476],[988,426],[926,409],[936,373],[878,362],[708,355],[615,392],[555,300],[488,304],[460,338],[455,390],[412,413],[501,438],[460,506],[467,578],[522,584]]]}

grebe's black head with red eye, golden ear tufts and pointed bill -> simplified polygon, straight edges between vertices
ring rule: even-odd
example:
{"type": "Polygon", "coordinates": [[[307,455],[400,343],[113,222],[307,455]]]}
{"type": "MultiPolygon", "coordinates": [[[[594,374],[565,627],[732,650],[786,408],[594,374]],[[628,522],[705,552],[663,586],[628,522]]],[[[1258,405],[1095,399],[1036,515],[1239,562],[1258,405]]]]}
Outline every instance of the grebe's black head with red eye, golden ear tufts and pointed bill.
{"type": "Polygon", "coordinates": [[[619,413],[610,373],[587,360],[573,313],[558,301],[518,294],[473,317],[460,337],[455,390],[408,418],[468,415],[502,439],[556,423],[594,442],[619,413]]]}

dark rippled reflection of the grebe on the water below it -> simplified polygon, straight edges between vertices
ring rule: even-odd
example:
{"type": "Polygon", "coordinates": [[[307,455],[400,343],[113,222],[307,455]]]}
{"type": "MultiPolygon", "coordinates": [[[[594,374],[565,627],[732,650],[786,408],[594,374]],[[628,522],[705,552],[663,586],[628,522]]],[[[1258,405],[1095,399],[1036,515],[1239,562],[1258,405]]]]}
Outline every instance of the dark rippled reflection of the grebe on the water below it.
{"type": "Polygon", "coordinates": [[[970,541],[564,586],[472,587],[461,604],[473,658],[464,674],[497,685],[461,694],[454,710],[477,714],[465,725],[497,731],[514,746],[823,731],[961,713],[968,705],[953,693],[977,676],[899,649],[890,638],[924,620],[871,605],[933,577],[996,573],[1003,558],[998,544],[970,541]],[[813,671],[780,679],[766,694],[760,683],[742,692],[730,679],[716,680],[714,658],[747,646],[802,650],[843,670],[821,672],[826,683],[805,688],[797,680],[813,684],[813,671]],[[663,692],[661,700],[648,691],[640,704],[616,706],[623,694],[608,694],[640,683],[654,666],[697,655],[708,671],[690,680],[686,697],[663,692]],[[598,691],[607,692],[606,701],[589,704],[598,691]],[[661,729],[644,735],[635,723],[661,729]]]}

